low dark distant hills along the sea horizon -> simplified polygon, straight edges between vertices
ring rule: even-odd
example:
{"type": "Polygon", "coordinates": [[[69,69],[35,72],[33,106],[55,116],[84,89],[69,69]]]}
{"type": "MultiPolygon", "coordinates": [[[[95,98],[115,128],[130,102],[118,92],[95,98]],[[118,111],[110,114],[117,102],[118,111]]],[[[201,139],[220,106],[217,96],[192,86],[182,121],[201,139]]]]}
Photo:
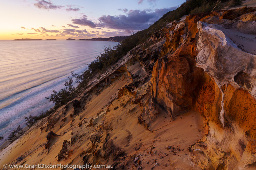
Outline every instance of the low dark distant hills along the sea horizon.
{"type": "MultiPolygon", "coordinates": [[[[116,37],[109,37],[109,38],[91,38],[91,39],[79,39],[75,40],[72,38],[68,38],[67,41],[115,41],[115,42],[121,42],[125,38],[128,38],[129,36],[116,36],[116,37]]],[[[16,39],[13,41],[55,41],[56,39],[47,39],[47,40],[42,40],[42,39],[31,39],[31,38],[22,38],[22,39],[16,39]]],[[[66,41],[66,40],[65,40],[66,41]]]]}

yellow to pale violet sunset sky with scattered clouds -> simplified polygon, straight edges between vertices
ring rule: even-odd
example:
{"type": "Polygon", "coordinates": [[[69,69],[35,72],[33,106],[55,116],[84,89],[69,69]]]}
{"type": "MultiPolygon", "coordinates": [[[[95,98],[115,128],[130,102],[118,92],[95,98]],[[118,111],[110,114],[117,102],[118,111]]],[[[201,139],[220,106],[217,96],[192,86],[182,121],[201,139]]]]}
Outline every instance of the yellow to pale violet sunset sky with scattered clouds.
{"type": "Polygon", "coordinates": [[[0,40],[127,36],[185,0],[0,0],[0,40]]]}

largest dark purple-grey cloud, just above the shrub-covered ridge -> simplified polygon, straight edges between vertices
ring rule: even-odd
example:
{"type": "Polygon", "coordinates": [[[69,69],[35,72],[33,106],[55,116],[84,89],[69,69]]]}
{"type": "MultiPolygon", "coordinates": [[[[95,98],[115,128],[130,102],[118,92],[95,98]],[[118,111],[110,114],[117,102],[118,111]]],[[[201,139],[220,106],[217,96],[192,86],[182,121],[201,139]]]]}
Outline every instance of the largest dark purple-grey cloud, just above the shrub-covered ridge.
{"type": "Polygon", "coordinates": [[[164,13],[174,10],[175,7],[155,10],[130,10],[126,15],[104,15],[99,18],[100,24],[111,29],[141,30],[148,24],[156,22],[164,13]]]}

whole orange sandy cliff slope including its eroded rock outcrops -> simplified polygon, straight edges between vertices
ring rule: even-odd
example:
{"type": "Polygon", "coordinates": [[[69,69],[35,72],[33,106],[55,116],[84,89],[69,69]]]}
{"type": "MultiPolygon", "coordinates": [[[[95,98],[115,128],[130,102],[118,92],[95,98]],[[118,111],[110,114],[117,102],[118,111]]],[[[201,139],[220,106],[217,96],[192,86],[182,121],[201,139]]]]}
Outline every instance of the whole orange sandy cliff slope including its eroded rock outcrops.
{"type": "Polygon", "coordinates": [[[255,169],[255,20],[241,7],[167,24],[2,149],[0,169],[255,169]]]}

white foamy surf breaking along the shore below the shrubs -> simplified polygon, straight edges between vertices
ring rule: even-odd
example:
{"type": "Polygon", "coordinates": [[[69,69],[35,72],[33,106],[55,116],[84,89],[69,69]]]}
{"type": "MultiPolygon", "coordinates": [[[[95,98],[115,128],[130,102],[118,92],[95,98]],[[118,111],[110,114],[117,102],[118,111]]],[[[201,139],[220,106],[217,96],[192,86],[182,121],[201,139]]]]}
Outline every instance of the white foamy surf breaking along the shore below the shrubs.
{"type": "MultiPolygon", "coordinates": [[[[91,43],[91,42],[89,42],[89,43],[91,43]]],[[[102,42],[100,44],[104,45],[106,43],[102,42]]],[[[111,44],[111,46],[113,46],[116,43],[115,42],[109,42],[109,44],[111,44]]],[[[102,51],[103,50],[104,50],[104,48],[102,48],[102,51]]],[[[101,51],[99,51],[98,55],[100,55],[100,53],[101,53],[101,51]]],[[[84,56],[86,56],[86,60],[88,60],[89,63],[91,63],[90,60],[94,60],[95,59],[94,56],[96,56],[96,55],[95,54],[91,55],[91,53],[88,53],[88,55],[85,54],[84,56]],[[87,59],[87,57],[88,57],[88,59],[87,59]]],[[[80,57],[80,58],[82,58],[82,57],[80,57]]],[[[81,67],[78,67],[76,70],[74,70],[74,72],[80,74],[81,72],[86,70],[86,68],[87,68],[86,64],[84,64],[81,67]]],[[[15,124],[15,125],[13,124],[12,125],[12,123],[14,123],[13,120],[10,119],[10,122],[9,122],[9,119],[7,119],[7,118],[6,119],[5,118],[2,119],[3,124],[2,124],[1,129],[3,128],[4,130],[1,132],[1,135],[4,136],[5,138],[8,137],[9,133],[11,133],[12,130],[14,130],[19,124],[22,126],[22,128],[25,127],[25,119],[23,118],[23,116],[29,116],[29,115],[37,116],[42,111],[46,111],[46,110],[49,110],[50,108],[52,108],[54,106],[54,104],[50,103],[46,99],[45,100],[43,99],[43,101],[46,104],[44,105],[44,103],[43,103],[43,105],[42,105],[42,102],[40,102],[42,97],[39,100],[37,100],[37,97],[41,96],[40,95],[41,93],[46,94],[45,93],[46,91],[50,92],[50,93],[47,92],[47,93],[49,93],[49,96],[46,96],[46,97],[50,97],[50,95],[52,94],[52,90],[59,91],[60,89],[64,88],[64,82],[66,80],[68,80],[68,78],[67,78],[68,76],[69,77],[71,76],[71,71],[68,71],[68,74],[65,74],[65,75],[63,75],[61,77],[57,77],[57,79],[52,79],[50,81],[46,81],[44,83],[41,83],[39,86],[27,89],[24,92],[24,94],[22,94],[21,96],[17,96],[17,99],[16,99],[16,96],[12,97],[15,100],[12,101],[12,102],[8,102],[8,104],[5,105],[5,107],[1,108],[0,110],[2,110],[2,111],[0,111],[0,113],[1,113],[2,116],[6,115],[6,114],[8,115],[8,113],[12,113],[12,110],[15,109],[15,112],[13,112],[12,115],[14,115],[15,119],[17,119],[18,122],[17,122],[17,124],[15,124]],[[28,100],[31,100],[32,102],[36,101],[35,105],[34,105],[34,102],[31,105],[29,105],[30,101],[28,101],[28,100]],[[40,104],[40,106],[37,106],[38,103],[40,104]],[[23,107],[23,105],[24,105],[24,107],[23,107]],[[27,106],[29,106],[29,107],[27,107],[27,106]],[[16,108],[18,108],[18,110],[16,108]],[[18,117],[18,114],[20,114],[21,112],[22,112],[22,115],[20,117],[18,117]],[[24,115],[23,112],[28,114],[28,115],[24,115]],[[20,119],[22,119],[22,120],[20,120],[20,119]],[[5,121],[5,120],[7,120],[7,121],[5,121]],[[4,126],[4,123],[6,123],[5,126],[4,126]]],[[[73,80],[74,80],[74,78],[73,78],[73,80]]],[[[76,86],[76,83],[74,82],[73,85],[76,86]]],[[[19,95],[20,95],[20,93],[19,93],[19,95]]],[[[4,104],[4,102],[3,102],[3,104],[4,104]]],[[[10,116],[10,114],[9,114],[9,116],[10,116]]],[[[4,144],[4,142],[3,143],[1,142],[1,146],[3,144],[4,144]]]]}

